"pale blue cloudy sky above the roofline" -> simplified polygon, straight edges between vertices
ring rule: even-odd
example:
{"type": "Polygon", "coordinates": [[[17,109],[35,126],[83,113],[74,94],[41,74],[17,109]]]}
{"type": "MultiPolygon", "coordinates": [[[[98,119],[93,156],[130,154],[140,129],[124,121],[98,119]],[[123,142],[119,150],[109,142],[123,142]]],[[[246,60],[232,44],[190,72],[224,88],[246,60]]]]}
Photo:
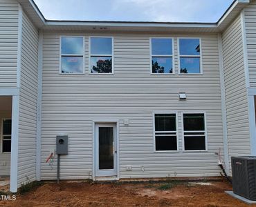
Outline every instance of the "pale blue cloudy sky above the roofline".
{"type": "Polygon", "coordinates": [[[233,0],[34,0],[46,19],[216,22],[233,0]]]}

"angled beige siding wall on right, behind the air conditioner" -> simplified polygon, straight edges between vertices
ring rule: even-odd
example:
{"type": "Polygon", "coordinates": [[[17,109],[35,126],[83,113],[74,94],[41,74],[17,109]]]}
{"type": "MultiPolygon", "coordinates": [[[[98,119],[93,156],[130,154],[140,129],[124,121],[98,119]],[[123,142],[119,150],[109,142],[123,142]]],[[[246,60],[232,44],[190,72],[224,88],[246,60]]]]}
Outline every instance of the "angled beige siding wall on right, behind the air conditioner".
{"type": "Polygon", "coordinates": [[[223,66],[229,157],[250,155],[248,97],[240,16],[223,32],[223,66]]]}

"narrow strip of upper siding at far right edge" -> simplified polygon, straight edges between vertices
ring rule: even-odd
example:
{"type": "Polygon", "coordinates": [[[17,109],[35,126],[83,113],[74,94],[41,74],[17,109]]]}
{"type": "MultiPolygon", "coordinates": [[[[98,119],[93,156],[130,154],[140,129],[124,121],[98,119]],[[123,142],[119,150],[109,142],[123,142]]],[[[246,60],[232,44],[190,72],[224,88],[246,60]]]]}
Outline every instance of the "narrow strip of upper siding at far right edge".
{"type": "Polygon", "coordinates": [[[250,87],[256,88],[256,1],[244,10],[250,87]]]}

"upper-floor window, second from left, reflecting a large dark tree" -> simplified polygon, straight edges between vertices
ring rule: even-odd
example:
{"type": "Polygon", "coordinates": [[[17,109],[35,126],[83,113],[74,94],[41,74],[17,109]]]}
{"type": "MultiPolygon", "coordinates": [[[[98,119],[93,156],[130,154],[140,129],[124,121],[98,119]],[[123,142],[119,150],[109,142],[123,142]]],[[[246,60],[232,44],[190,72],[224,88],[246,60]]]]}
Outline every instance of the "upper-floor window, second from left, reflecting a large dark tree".
{"type": "Polygon", "coordinates": [[[91,73],[113,73],[112,38],[91,37],[91,73]]]}

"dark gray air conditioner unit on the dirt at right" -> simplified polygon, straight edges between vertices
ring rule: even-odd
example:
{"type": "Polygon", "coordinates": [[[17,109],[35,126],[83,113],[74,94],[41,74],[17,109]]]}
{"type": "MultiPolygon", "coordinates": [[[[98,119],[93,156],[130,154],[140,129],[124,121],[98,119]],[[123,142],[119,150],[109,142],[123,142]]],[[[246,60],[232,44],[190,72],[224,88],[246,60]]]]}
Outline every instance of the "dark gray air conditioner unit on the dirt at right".
{"type": "Polygon", "coordinates": [[[231,157],[233,193],[256,201],[256,157],[231,157]]]}

